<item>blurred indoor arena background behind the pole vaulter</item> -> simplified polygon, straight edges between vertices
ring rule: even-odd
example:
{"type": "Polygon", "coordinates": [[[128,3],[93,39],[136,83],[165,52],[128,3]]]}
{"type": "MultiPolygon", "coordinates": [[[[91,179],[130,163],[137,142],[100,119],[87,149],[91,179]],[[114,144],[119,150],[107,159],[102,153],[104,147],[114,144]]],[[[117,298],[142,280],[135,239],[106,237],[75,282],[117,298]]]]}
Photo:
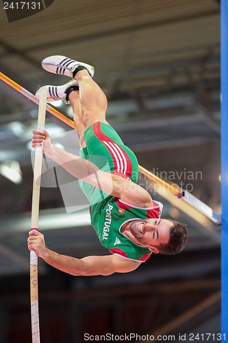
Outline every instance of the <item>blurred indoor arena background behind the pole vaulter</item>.
{"type": "MultiPolygon", "coordinates": [[[[66,82],[42,71],[46,56],[94,65],[109,100],[107,120],[140,165],[220,212],[219,1],[55,0],[13,23],[1,11],[0,32],[0,70],[32,93],[66,82]]],[[[29,343],[29,141],[38,108],[0,86],[0,342],[29,343]]],[[[72,118],[65,104],[58,109],[72,118]]],[[[47,114],[47,130],[61,143],[70,128],[47,114]]],[[[42,343],[84,342],[85,333],[164,335],[164,342],[179,333],[220,332],[220,229],[181,211],[181,200],[154,198],[164,202],[164,217],[188,224],[186,249],[112,276],[73,277],[40,261],[42,343]]],[[[49,248],[75,257],[105,253],[85,207],[77,185],[70,204],[60,188],[42,187],[40,230],[49,248]]]]}

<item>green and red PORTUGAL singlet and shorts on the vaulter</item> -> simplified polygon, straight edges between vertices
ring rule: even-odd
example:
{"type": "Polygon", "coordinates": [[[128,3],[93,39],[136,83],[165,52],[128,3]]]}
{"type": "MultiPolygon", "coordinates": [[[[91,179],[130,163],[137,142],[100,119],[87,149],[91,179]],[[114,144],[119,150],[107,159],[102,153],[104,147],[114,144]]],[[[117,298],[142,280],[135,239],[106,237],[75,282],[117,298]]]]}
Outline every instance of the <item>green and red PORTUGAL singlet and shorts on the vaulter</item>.
{"type": "MultiPolygon", "coordinates": [[[[94,122],[84,132],[86,147],[80,155],[99,169],[118,174],[132,182],[138,180],[138,161],[134,152],[127,147],[112,126],[100,121],[94,122]]],[[[121,233],[121,227],[131,220],[159,218],[162,204],[153,202],[149,209],[126,204],[100,189],[79,180],[82,191],[90,202],[91,224],[101,241],[112,254],[126,259],[146,261],[151,250],[139,246],[121,233]]]]}

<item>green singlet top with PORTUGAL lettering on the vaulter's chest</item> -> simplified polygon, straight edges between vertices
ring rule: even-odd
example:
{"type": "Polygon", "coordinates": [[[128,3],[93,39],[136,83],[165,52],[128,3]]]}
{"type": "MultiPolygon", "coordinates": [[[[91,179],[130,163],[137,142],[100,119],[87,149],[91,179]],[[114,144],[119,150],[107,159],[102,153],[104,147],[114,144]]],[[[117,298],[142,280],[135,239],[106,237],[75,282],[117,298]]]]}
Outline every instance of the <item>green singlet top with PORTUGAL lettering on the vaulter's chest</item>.
{"type": "Polygon", "coordinates": [[[139,208],[109,196],[103,202],[92,206],[91,224],[101,244],[110,252],[127,259],[146,261],[151,256],[151,250],[125,237],[121,233],[121,227],[132,220],[159,218],[162,207],[160,202],[154,201],[153,207],[149,209],[139,208]]]}

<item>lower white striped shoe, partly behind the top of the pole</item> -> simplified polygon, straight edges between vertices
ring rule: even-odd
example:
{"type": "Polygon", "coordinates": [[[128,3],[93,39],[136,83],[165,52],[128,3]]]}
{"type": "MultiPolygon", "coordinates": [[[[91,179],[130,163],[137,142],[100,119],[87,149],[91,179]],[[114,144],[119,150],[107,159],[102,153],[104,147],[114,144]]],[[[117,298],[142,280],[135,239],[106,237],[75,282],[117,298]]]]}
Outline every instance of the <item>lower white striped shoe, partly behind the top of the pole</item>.
{"type": "MultiPolygon", "coordinates": [[[[71,87],[75,88],[75,91],[79,90],[78,82],[75,79],[67,82],[66,84],[62,84],[62,86],[47,85],[41,88],[44,88],[44,87],[47,89],[47,102],[55,102],[57,100],[62,100],[66,104],[70,104],[70,102],[67,99],[66,90],[71,87]]],[[[41,88],[39,88],[38,91],[36,92],[36,97],[38,97],[38,99],[40,97],[41,88]]]]}

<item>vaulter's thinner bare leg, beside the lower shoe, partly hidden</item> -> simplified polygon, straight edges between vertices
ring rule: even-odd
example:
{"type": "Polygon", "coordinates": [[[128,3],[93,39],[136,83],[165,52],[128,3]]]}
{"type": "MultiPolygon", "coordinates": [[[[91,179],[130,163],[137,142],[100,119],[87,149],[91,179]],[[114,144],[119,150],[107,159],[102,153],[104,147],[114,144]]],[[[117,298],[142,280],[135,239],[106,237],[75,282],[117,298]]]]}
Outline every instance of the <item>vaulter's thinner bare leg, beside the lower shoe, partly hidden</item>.
{"type": "Polygon", "coordinates": [[[74,113],[75,128],[79,135],[81,147],[86,147],[86,142],[84,141],[84,115],[81,107],[81,99],[79,97],[79,91],[73,91],[68,96],[74,113]]]}

